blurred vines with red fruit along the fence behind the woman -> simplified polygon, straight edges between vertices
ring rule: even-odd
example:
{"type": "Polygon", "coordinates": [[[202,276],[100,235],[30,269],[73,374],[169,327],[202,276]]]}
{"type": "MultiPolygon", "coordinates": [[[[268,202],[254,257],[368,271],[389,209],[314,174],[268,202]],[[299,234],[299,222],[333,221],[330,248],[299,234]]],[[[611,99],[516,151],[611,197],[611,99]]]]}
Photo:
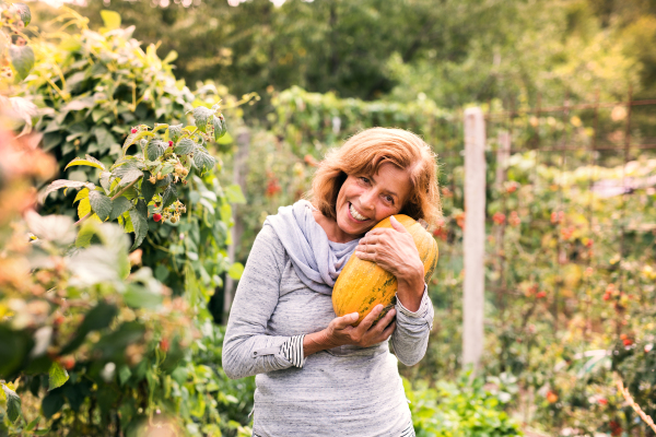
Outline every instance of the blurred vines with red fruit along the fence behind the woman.
{"type": "MultiPolygon", "coordinates": [[[[258,212],[274,212],[301,197],[309,187],[313,165],[359,130],[399,127],[433,144],[440,155],[444,208],[434,229],[438,269],[429,284],[437,317],[425,358],[401,371],[412,380],[455,378],[461,365],[466,223],[461,113],[440,109],[430,101],[340,99],[297,87],[274,94],[272,103],[271,130],[256,144],[258,156],[266,156],[266,169],[260,167],[262,160],[250,161],[247,196],[254,201],[244,221],[253,231],[245,232],[244,257],[263,221],[258,212]]],[[[499,102],[491,106],[484,110],[501,109],[499,102]]],[[[619,105],[596,115],[591,109],[566,116],[519,114],[488,125],[483,363],[487,375],[517,377],[519,390],[504,409],[542,432],[617,434],[644,428],[617,393],[620,376],[613,369],[631,381],[635,399],[653,413],[648,375],[654,339],[647,308],[656,277],[651,225],[656,215],[648,180],[656,161],[643,153],[623,164],[618,151],[625,143],[626,117],[619,105]],[[516,153],[505,165],[496,163],[502,131],[513,132],[513,147],[544,144],[547,150],[516,153]],[[562,151],[549,150],[564,139],[567,147],[581,149],[567,151],[565,161],[562,151]],[[609,152],[590,152],[593,141],[609,152]],[[506,175],[501,185],[500,165],[506,175]],[[625,177],[635,187],[630,193],[622,188],[625,177]]],[[[647,109],[634,108],[633,141],[652,138],[653,121],[647,109]]]]}

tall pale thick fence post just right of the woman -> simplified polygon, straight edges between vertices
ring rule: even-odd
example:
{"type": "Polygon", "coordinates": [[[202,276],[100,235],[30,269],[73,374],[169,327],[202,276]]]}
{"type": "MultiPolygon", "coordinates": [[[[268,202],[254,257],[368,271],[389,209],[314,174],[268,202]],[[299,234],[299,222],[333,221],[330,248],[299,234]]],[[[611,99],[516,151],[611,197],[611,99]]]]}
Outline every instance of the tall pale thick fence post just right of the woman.
{"type": "Polygon", "coordinates": [[[465,110],[464,234],[462,364],[476,369],[483,353],[485,298],[485,120],[478,107],[465,110]]]}

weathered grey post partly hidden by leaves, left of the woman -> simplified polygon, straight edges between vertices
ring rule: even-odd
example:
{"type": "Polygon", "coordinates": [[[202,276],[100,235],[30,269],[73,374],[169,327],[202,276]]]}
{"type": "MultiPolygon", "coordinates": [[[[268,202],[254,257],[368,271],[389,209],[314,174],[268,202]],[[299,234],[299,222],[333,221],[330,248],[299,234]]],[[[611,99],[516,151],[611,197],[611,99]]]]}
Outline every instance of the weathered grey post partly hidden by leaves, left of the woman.
{"type": "MultiPolygon", "coordinates": [[[[248,174],[247,160],[248,149],[250,145],[250,131],[247,128],[243,128],[237,133],[237,153],[235,154],[235,161],[233,165],[233,184],[237,184],[242,187],[242,192],[246,192],[246,175],[248,174]]],[[[231,229],[232,233],[232,245],[227,247],[227,261],[232,264],[235,262],[235,249],[242,239],[242,233],[244,232],[244,224],[237,218],[237,206],[232,205],[233,222],[234,226],[231,229]]],[[[223,288],[223,324],[227,324],[227,316],[230,315],[230,307],[232,306],[234,295],[235,281],[225,275],[225,286],[223,288]]]]}

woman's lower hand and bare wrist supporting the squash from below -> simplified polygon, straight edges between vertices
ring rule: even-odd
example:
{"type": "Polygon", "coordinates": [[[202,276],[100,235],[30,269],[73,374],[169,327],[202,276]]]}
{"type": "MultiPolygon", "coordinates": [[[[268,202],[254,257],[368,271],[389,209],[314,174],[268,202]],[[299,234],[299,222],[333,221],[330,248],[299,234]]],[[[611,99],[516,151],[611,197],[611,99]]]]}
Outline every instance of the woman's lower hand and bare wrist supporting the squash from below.
{"type": "Polygon", "coordinates": [[[325,330],[305,335],[303,340],[304,355],[307,356],[319,351],[342,346],[344,344],[368,347],[386,341],[396,328],[396,322],[394,321],[396,309],[391,308],[372,327],[382,311],[383,305],[376,305],[356,327],[354,327],[353,323],[355,323],[360,317],[358,312],[332,319],[325,330]]]}

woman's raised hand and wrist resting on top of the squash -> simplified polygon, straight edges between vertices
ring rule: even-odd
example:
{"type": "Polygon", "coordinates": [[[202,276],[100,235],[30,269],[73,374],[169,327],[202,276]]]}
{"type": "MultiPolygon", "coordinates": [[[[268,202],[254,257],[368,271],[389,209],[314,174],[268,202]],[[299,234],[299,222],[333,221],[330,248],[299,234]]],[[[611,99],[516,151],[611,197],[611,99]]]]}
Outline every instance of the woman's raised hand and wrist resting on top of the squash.
{"type": "Polygon", "coordinates": [[[411,311],[419,309],[424,290],[423,263],[412,235],[394,215],[389,217],[391,229],[377,227],[360,239],[355,256],[372,261],[394,274],[398,281],[398,298],[411,311]]]}

